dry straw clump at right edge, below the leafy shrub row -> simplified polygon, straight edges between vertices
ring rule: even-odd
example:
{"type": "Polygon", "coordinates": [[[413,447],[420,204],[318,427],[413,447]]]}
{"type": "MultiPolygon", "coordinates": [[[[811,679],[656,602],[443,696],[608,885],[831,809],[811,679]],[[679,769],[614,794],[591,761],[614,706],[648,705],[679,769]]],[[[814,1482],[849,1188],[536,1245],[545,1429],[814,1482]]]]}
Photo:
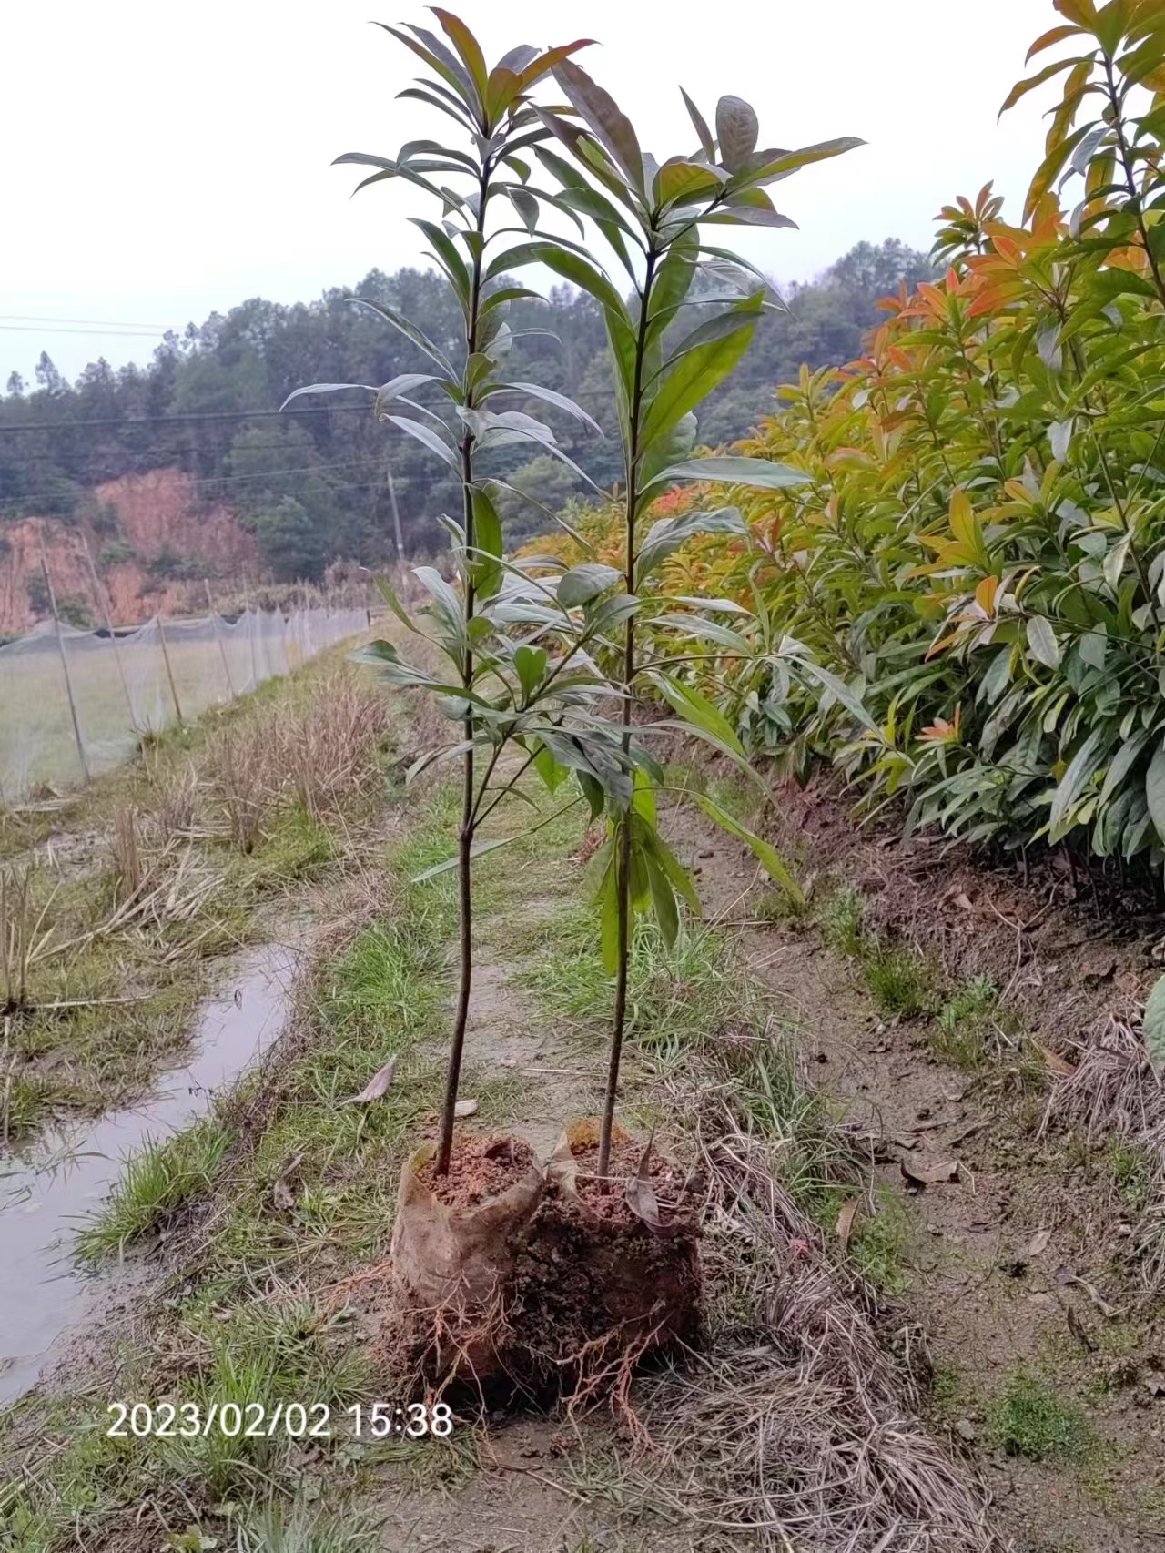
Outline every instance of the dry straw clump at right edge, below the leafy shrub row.
{"type": "Polygon", "coordinates": [[[1145,1289],[1159,1297],[1165,1289],[1165,1078],[1149,1062],[1140,1033],[1115,1014],[1092,1030],[1075,1072],[1056,1079],[1041,1134],[1064,1121],[1083,1126],[1090,1141],[1115,1134],[1145,1151],[1149,1204],[1135,1249],[1145,1289]]]}

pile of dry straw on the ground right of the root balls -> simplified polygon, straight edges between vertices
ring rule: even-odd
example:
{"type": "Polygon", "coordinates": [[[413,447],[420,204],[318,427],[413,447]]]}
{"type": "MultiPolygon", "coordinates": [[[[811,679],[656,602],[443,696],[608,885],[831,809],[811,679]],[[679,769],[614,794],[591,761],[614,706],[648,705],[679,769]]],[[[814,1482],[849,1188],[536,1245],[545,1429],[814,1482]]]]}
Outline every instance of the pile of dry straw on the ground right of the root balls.
{"type": "Polygon", "coordinates": [[[645,1424],[673,1471],[652,1472],[649,1497],[710,1545],[1002,1553],[985,1499],[912,1416],[909,1378],[781,1185],[772,1145],[725,1106],[704,1166],[708,1236],[750,1284],[756,1322],[657,1387],[645,1424]]]}

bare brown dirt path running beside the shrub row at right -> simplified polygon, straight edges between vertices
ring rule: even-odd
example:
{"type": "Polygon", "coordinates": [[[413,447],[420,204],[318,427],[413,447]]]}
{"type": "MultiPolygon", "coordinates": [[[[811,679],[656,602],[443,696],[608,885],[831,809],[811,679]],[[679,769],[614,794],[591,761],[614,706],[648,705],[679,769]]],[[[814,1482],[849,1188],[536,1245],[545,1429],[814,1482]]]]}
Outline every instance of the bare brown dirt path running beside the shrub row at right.
{"type": "MultiPolygon", "coordinates": [[[[669,834],[710,915],[749,919],[763,891],[752,857],[680,811],[669,834]]],[[[884,1331],[916,1328],[932,1424],[982,1471],[1000,1528],[1022,1553],[1165,1547],[1165,1332],[1129,1277],[1134,1214],[1103,1151],[1039,1137],[1030,1072],[968,1072],[930,1048],[932,1020],[879,1017],[816,929],[742,936],[822,1086],[876,1140],[861,1213],[898,1242],[884,1331]],[[904,1176],[952,1162],[954,1180],[904,1176]]]]}

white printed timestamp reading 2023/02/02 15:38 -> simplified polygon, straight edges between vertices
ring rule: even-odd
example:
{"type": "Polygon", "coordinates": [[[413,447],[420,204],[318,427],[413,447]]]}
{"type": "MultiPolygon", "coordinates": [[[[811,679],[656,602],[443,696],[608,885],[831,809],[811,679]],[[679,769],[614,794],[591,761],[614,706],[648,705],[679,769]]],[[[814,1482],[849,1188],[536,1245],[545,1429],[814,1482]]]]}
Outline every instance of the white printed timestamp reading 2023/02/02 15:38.
{"type": "Polygon", "coordinates": [[[228,1440],[447,1440],[454,1413],[447,1402],[354,1402],[334,1409],[328,1402],[110,1402],[109,1427],[113,1438],[199,1440],[225,1435],[228,1440]]]}

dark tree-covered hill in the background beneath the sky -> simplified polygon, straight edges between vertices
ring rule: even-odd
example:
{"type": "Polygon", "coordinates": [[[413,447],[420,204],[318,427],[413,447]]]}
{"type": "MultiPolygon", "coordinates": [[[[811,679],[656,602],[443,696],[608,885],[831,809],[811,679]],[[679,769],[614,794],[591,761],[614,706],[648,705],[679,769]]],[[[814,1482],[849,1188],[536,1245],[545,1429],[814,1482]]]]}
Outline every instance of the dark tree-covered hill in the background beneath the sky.
{"type": "MultiPolygon", "coordinates": [[[[744,435],[767,408],[772,388],[811,367],[853,359],[876,321],[879,297],[929,273],[927,259],[890,239],[862,242],[814,284],[794,287],[788,314],[769,314],[736,374],[708,401],[701,439],[718,446],[744,435]]],[[[23,517],[87,519],[113,561],[127,547],[115,511],[95,511],[103,481],[151,469],[182,469],[208,506],[231,508],[259,545],[272,573],[311,578],[332,558],[363,562],[393,553],[385,472],[395,480],[405,551],[441,547],[435,516],[460,506],[460,489],[441,478],[424,447],[377,426],[362,393],[298,399],[311,382],[377,385],[426,362],[391,326],[353,297],[388,303],[457,354],[460,315],[435,272],[373,270],[354,289],[290,307],[253,300],[214,314],[200,328],[171,334],[148,367],[113,371],[99,360],[67,384],[48,356],[36,384],[17,374],[0,399],[0,545],[3,523],[23,517]]],[[[561,444],[600,485],[618,471],[603,320],[590,297],[570,289],[548,301],[513,306],[511,376],[570,394],[607,430],[607,439],[517,399],[553,424],[561,444]],[[527,331],[527,332],[522,332],[527,331]],[[553,339],[553,337],[556,339],[553,339]]],[[[547,505],[581,491],[550,455],[500,466],[506,478],[547,505]]],[[[541,526],[536,509],[511,512],[514,537],[541,526]]],[[[169,558],[182,568],[182,556],[169,558]]]]}

